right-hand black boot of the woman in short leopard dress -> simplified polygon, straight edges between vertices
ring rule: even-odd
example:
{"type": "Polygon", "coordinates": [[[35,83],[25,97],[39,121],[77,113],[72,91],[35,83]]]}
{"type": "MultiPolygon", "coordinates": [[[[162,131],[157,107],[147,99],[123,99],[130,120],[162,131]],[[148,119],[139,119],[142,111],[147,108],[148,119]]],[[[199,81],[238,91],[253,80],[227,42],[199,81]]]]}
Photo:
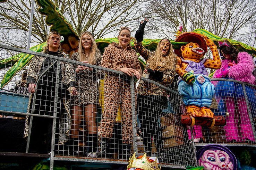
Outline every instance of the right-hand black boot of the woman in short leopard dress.
{"type": "Polygon", "coordinates": [[[97,133],[88,134],[88,144],[87,144],[87,156],[97,157],[97,133]]]}

